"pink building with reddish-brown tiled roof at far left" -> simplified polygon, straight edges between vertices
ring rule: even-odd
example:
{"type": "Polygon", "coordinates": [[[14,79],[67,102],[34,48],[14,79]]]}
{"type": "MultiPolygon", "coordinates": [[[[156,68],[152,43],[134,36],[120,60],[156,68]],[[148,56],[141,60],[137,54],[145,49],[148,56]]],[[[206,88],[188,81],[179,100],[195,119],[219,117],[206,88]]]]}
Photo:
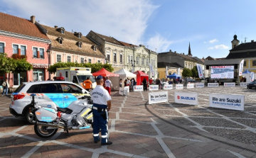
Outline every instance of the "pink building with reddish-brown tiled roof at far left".
{"type": "Polygon", "coordinates": [[[35,21],[18,18],[6,13],[0,13],[0,52],[8,57],[14,54],[26,55],[27,61],[33,65],[29,72],[0,74],[0,85],[4,79],[9,79],[10,86],[14,88],[23,81],[45,81],[48,77],[48,55],[50,39],[43,33],[35,21]]]}

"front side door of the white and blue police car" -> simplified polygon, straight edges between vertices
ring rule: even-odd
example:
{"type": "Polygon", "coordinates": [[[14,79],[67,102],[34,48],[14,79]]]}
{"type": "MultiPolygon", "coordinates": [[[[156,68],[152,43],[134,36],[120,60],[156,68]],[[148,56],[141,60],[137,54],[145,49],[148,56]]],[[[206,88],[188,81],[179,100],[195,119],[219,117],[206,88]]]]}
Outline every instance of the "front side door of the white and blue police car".
{"type": "Polygon", "coordinates": [[[78,100],[78,96],[82,95],[82,89],[75,84],[60,83],[63,91],[63,108],[68,108],[70,103],[78,100]]]}

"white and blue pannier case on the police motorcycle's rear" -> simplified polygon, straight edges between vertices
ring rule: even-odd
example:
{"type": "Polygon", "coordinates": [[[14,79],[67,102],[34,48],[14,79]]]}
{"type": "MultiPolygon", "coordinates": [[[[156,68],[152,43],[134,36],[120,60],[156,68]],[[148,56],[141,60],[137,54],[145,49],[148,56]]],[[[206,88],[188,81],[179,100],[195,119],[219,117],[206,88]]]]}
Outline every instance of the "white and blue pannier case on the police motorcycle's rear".
{"type": "Polygon", "coordinates": [[[40,108],[36,111],[36,118],[41,122],[50,123],[57,118],[57,113],[53,108],[40,108]]]}

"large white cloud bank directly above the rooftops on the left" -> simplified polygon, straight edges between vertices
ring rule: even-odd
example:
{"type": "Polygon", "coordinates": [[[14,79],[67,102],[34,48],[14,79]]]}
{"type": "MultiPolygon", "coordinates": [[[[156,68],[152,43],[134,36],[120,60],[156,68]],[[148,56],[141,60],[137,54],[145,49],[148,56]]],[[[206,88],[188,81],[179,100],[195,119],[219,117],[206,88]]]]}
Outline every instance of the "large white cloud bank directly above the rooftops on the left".
{"type": "Polygon", "coordinates": [[[127,43],[139,44],[149,17],[159,7],[148,0],[2,0],[6,12],[21,18],[36,16],[47,26],[61,26],[87,35],[90,30],[127,43]],[[4,3],[3,3],[4,2],[4,3]]]}

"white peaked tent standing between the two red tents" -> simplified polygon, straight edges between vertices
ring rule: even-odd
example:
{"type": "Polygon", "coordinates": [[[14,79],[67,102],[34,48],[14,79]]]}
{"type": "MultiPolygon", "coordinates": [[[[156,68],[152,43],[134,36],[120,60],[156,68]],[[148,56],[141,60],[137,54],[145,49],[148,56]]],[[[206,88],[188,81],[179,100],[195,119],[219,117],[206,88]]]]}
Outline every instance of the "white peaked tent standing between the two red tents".
{"type": "Polygon", "coordinates": [[[132,74],[132,72],[128,72],[126,69],[122,68],[119,71],[114,72],[114,74],[119,74],[119,77],[110,77],[110,81],[112,82],[112,89],[119,90],[119,81],[122,79],[122,86],[124,86],[124,79],[132,79],[134,78],[136,81],[136,74],[132,74]]]}

